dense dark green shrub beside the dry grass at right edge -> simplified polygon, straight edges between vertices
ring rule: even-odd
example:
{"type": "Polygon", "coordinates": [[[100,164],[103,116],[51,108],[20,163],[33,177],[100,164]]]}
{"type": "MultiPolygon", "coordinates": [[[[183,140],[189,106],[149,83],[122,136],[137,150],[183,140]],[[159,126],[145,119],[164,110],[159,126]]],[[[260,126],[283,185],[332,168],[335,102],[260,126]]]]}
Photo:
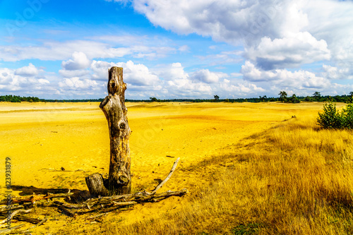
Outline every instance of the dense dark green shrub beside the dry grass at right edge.
{"type": "Polygon", "coordinates": [[[323,113],[318,113],[318,125],[323,128],[353,129],[353,104],[348,104],[342,112],[338,112],[332,101],[323,105],[323,113]]]}

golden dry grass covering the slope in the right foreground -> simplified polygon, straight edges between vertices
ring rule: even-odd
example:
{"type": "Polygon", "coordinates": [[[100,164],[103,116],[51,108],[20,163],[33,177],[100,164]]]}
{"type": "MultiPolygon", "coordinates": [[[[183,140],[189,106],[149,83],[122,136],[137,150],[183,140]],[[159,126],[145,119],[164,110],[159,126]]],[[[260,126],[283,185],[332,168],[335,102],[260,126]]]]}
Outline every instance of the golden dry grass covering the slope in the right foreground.
{"type": "Polygon", "coordinates": [[[209,183],[177,212],[134,224],[112,217],[96,234],[353,233],[352,132],[292,119],[248,140],[185,170],[208,173],[209,183]]]}

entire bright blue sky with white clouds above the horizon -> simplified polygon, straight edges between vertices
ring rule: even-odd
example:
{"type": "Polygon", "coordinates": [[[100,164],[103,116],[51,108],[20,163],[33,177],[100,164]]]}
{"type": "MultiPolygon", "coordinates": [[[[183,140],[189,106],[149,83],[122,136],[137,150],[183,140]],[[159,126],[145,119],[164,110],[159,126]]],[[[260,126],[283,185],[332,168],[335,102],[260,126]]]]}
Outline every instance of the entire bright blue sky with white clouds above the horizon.
{"type": "Polygon", "coordinates": [[[0,2],[0,95],[126,98],[353,91],[353,1],[0,2]]]}

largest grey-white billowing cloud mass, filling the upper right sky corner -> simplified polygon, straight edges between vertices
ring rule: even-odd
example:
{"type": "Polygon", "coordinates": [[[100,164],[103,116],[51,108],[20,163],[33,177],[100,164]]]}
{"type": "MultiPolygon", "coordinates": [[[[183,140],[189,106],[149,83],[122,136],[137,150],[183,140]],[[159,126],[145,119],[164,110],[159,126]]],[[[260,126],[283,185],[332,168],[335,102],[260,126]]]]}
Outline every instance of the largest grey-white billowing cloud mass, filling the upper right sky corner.
{"type": "Polygon", "coordinates": [[[297,68],[330,59],[342,68],[353,66],[352,1],[130,2],[150,22],[167,30],[196,33],[233,45],[244,43],[245,59],[265,70],[297,68]]]}

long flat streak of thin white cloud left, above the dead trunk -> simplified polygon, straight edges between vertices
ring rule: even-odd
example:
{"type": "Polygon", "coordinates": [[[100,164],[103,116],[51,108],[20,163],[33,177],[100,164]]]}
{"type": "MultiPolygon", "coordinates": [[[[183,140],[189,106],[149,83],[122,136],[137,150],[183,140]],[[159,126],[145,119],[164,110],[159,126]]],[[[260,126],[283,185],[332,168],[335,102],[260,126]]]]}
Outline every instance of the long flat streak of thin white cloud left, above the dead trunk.
{"type": "MultiPolygon", "coordinates": [[[[84,53],[87,59],[118,58],[126,55],[132,55],[136,58],[156,59],[177,51],[173,47],[136,45],[130,41],[125,43],[129,45],[128,47],[113,47],[111,42],[99,42],[98,40],[44,41],[38,46],[30,47],[16,45],[0,46],[0,60],[20,61],[24,59],[40,59],[43,61],[56,61],[70,59],[76,53],[76,61],[73,58],[71,61],[66,61],[67,65],[65,65],[68,66],[73,63],[77,66],[77,60],[82,60],[80,62],[85,61],[83,55],[77,53],[84,53]]],[[[83,64],[80,64],[80,66],[83,66],[83,64]]]]}

